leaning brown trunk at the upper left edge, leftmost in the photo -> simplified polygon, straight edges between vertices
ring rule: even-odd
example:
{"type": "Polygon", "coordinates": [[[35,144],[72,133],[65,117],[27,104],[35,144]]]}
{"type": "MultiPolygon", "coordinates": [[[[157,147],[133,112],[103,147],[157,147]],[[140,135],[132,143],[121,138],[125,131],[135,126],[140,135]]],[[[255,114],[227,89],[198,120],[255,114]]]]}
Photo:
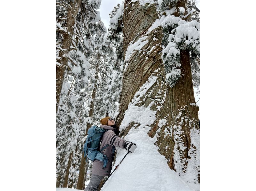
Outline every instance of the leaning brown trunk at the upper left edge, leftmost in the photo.
{"type": "Polygon", "coordinates": [[[62,89],[62,84],[64,80],[64,73],[68,63],[68,52],[71,44],[71,39],[73,36],[73,27],[76,21],[76,15],[78,13],[78,9],[80,7],[81,0],[74,0],[71,1],[70,6],[68,8],[67,14],[67,24],[66,30],[67,33],[63,35],[63,42],[62,47],[59,52],[60,60],[57,60],[61,66],[56,66],[56,112],[58,111],[59,101],[60,101],[60,94],[62,89]]]}

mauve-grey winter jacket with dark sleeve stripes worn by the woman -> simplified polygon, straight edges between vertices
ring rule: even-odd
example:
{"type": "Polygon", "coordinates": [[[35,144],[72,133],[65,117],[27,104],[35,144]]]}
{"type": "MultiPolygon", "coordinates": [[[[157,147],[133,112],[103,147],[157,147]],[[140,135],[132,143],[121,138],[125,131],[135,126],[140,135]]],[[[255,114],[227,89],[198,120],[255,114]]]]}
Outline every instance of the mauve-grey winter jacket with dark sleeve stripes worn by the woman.
{"type": "Polygon", "coordinates": [[[114,128],[108,125],[100,125],[101,128],[104,129],[108,129],[108,131],[106,131],[103,134],[102,137],[102,141],[101,141],[101,145],[100,145],[100,150],[106,145],[108,144],[109,146],[107,148],[105,148],[102,153],[104,155],[107,155],[108,157],[108,163],[105,169],[102,169],[103,167],[103,162],[99,161],[99,160],[95,160],[92,164],[92,174],[96,174],[96,175],[100,175],[100,176],[108,176],[111,172],[111,165],[112,165],[112,161],[113,161],[113,156],[114,154],[112,154],[112,149],[114,147],[119,147],[124,149],[124,143],[126,142],[126,140],[121,139],[120,137],[118,137],[115,133],[114,133],[114,128]]]}

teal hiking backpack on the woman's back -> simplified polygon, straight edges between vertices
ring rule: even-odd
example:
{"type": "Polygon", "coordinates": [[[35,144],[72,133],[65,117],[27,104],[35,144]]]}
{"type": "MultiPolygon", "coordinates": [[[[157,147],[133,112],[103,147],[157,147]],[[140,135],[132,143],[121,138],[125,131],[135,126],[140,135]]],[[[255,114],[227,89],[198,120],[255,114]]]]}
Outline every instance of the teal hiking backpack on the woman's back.
{"type": "MultiPolygon", "coordinates": [[[[88,129],[88,136],[86,138],[84,144],[84,157],[87,159],[94,161],[100,160],[103,164],[103,169],[106,168],[108,157],[102,153],[104,149],[108,147],[108,144],[105,145],[101,150],[100,149],[100,141],[102,139],[103,134],[108,131],[107,129],[100,128],[98,126],[92,126],[88,129]]],[[[113,148],[114,149],[114,148],[113,148]]]]}

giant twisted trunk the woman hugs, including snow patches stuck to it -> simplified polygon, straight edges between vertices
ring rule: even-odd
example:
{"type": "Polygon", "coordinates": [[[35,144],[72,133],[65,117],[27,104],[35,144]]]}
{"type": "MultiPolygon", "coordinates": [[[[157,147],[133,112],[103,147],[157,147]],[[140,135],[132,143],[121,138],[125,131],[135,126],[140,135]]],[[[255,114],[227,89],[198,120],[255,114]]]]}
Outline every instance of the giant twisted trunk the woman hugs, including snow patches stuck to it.
{"type": "Polygon", "coordinates": [[[121,136],[136,128],[148,129],[173,168],[174,141],[161,59],[163,31],[154,1],[144,2],[124,4],[124,73],[116,125],[121,136]]]}

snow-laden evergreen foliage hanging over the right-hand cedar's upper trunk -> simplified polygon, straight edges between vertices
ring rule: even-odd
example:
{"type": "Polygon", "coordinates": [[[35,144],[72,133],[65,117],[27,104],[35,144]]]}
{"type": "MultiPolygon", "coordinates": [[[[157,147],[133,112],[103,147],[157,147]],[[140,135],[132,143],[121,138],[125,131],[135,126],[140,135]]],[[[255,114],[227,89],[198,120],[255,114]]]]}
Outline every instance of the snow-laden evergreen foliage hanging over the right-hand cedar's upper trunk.
{"type": "Polygon", "coordinates": [[[173,87],[180,79],[180,51],[189,49],[192,79],[199,86],[199,9],[195,0],[186,1],[179,7],[178,0],[158,1],[159,19],[164,37],[162,40],[166,81],[173,87]]]}

